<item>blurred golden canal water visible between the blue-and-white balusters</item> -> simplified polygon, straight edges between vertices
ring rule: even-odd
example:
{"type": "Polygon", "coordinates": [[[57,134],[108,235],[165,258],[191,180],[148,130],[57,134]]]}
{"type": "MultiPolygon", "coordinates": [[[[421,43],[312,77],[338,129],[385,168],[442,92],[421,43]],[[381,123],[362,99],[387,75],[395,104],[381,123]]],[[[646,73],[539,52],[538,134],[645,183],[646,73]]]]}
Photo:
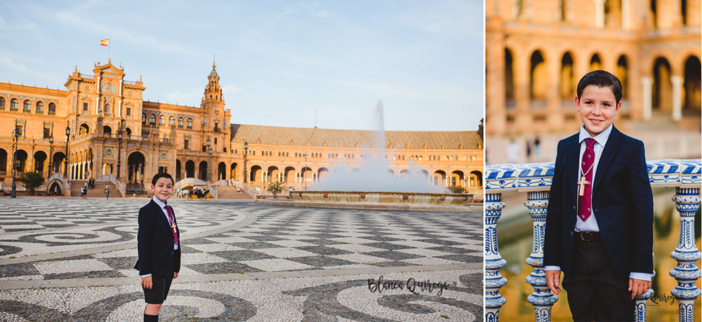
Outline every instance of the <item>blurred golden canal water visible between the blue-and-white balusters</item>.
{"type": "MultiPolygon", "coordinates": [[[[654,297],[647,304],[648,321],[680,321],[678,303],[670,295],[670,290],[677,286],[677,281],[668,272],[677,262],[670,253],[677,247],[680,232],[680,215],[675,210],[675,203],[670,199],[675,194],[674,188],[654,189],[654,270],[656,276],[651,280],[654,297]]],[[[526,195],[524,195],[526,198],[526,195]]],[[[523,207],[523,206],[522,206],[523,207]]],[[[527,297],[534,292],[524,278],[531,274],[532,267],[524,260],[531,254],[532,225],[531,217],[524,208],[524,214],[509,220],[498,221],[498,246],[500,253],[507,261],[501,269],[501,274],[508,279],[500,293],[507,303],[500,310],[500,321],[534,321],[534,307],[527,302],[527,297]]],[[[700,247],[700,213],[696,216],[696,245],[700,247]]],[[[697,262],[700,266],[700,261],[697,262]]],[[[701,281],[696,285],[702,288],[701,281]]],[[[700,297],[695,302],[695,319],[701,318],[700,297]]],[[[558,302],[551,311],[551,321],[573,321],[565,293],[561,293],[558,302]]]]}

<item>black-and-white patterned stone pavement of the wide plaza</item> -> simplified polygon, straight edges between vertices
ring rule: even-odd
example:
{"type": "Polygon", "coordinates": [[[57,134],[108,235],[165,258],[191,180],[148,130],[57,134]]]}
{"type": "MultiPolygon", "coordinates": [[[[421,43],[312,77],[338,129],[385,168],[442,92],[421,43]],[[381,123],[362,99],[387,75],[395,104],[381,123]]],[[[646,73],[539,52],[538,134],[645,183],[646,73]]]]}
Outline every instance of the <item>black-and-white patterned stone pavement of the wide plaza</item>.
{"type": "MultiPolygon", "coordinates": [[[[147,199],[0,199],[0,321],[140,321],[147,199]]],[[[479,321],[482,213],[171,201],[161,321],[479,321]]]]}

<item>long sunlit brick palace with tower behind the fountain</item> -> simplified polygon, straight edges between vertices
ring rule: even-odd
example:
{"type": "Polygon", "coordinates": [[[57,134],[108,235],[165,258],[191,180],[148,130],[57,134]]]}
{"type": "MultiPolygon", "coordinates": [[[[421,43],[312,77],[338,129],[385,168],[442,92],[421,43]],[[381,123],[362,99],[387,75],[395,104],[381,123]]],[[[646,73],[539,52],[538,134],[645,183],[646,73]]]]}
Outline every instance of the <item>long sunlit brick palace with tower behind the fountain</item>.
{"type": "Polygon", "coordinates": [[[0,180],[11,181],[14,162],[18,175],[112,178],[126,192],[148,191],[158,172],[176,181],[263,188],[279,180],[305,189],[333,168],[356,170],[380,158],[395,176],[417,175],[410,170],[420,165],[418,175],[432,185],[482,190],[477,131],[386,131],[378,149],[369,130],[232,124],[219,79],[213,65],[197,107],[144,101],[143,81],[128,81],[111,62],[98,62],[92,74],[74,69],[65,90],[0,83],[0,180]]]}

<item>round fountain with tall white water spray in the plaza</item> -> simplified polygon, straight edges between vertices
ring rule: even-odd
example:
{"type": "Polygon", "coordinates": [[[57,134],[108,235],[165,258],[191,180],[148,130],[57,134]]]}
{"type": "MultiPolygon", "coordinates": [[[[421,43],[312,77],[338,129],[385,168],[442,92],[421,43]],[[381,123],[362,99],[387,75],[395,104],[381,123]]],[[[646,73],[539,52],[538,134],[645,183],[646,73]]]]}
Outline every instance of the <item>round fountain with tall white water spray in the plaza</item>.
{"type": "MultiPolygon", "coordinates": [[[[307,191],[291,192],[293,206],[324,208],[453,210],[468,211],[472,194],[453,194],[445,187],[429,184],[428,172],[417,161],[409,161],[409,175],[397,177],[390,171],[385,154],[392,156],[385,142],[383,101],[376,106],[376,137],[366,147],[363,165],[349,170],[343,161],[330,169],[329,177],[307,191]],[[437,206],[442,206],[437,208],[437,206]],[[446,207],[450,207],[446,208],[446,207]]],[[[268,203],[264,201],[264,203],[268,203]]],[[[476,208],[471,207],[471,211],[476,208]]]]}

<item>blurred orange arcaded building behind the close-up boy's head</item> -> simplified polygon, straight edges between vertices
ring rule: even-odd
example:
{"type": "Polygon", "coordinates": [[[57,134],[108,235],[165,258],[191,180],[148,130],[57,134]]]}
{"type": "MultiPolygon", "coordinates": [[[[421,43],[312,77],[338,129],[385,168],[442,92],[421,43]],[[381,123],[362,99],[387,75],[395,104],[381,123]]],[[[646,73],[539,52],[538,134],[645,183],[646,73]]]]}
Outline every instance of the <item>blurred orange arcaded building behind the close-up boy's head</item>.
{"type": "Polygon", "coordinates": [[[486,1],[486,134],[577,126],[578,80],[623,83],[622,119],[699,123],[700,0],[486,1]]]}

